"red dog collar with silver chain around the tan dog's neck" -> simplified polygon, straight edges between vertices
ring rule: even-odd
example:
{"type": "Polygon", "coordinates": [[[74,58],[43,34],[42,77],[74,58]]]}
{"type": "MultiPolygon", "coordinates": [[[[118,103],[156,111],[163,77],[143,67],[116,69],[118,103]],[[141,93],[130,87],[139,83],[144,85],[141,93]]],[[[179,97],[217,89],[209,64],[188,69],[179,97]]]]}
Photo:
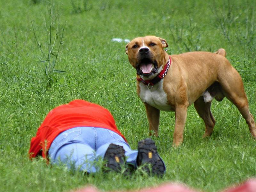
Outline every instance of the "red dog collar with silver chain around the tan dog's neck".
{"type": "Polygon", "coordinates": [[[162,69],[162,71],[160,71],[160,73],[154,79],[144,81],[140,76],[138,76],[137,80],[141,81],[143,84],[147,85],[149,89],[152,89],[154,84],[157,84],[159,81],[161,81],[161,79],[163,79],[166,76],[166,74],[171,66],[171,63],[172,63],[172,59],[169,56],[169,60],[164,65],[164,68],[162,69]]]}

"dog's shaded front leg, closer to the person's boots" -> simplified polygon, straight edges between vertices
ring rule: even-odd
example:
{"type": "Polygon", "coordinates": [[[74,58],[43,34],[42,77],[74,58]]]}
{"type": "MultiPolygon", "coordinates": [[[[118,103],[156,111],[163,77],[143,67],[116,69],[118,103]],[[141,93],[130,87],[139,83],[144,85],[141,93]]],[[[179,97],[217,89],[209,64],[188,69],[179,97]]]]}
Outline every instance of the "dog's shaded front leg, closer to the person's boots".
{"type": "Polygon", "coordinates": [[[149,135],[152,135],[151,131],[153,130],[154,135],[158,136],[160,110],[148,105],[148,103],[144,103],[144,104],[145,104],[146,112],[148,116],[149,135]]]}

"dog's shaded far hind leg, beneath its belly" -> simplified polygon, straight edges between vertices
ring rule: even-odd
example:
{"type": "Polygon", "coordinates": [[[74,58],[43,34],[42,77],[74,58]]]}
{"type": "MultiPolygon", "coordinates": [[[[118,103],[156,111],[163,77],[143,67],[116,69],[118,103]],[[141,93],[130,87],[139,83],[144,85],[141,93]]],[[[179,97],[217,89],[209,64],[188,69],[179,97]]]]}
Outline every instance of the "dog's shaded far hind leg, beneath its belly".
{"type": "Polygon", "coordinates": [[[194,102],[194,106],[198,115],[204,120],[205,132],[203,137],[209,137],[215,125],[215,119],[211,112],[211,102],[205,103],[204,97],[201,96],[194,102]]]}

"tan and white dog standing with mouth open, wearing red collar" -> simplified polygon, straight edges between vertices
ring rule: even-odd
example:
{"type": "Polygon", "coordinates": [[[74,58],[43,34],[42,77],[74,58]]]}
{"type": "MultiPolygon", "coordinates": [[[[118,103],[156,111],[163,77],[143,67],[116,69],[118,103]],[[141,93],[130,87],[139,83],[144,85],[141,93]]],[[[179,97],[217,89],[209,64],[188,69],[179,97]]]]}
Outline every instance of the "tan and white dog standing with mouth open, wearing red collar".
{"type": "Polygon", "coordinates": [[[188,106],[194,103],[204,120],[204,137],[210,136],[215,125],[211,102],[227,97],[236,105],[252,136],[256,126],[249,111],[241,76],[225,58],[226,51],[215,53],[187,52],[169,56],[167,42],[156,36],[133,39],[125,47],[129,61],[137,70],[137,94],[145,104],[149,130],[157,136],[160,110],[175,111],[173,145],[183,141],[188,106]]]}

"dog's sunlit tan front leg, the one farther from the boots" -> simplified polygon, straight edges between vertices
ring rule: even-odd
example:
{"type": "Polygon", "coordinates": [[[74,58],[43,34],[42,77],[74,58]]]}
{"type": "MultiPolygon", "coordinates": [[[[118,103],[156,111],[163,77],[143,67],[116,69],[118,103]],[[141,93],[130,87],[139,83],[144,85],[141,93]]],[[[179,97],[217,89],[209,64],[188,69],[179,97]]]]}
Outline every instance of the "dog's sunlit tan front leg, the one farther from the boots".
{"type": "Polygon", "coordinates": [[[188,107],[179,106],[175,108],[175,128],[173,134],[173,146],[178,146],[183,142],[183,132],[187,118],[188,107]]]}

